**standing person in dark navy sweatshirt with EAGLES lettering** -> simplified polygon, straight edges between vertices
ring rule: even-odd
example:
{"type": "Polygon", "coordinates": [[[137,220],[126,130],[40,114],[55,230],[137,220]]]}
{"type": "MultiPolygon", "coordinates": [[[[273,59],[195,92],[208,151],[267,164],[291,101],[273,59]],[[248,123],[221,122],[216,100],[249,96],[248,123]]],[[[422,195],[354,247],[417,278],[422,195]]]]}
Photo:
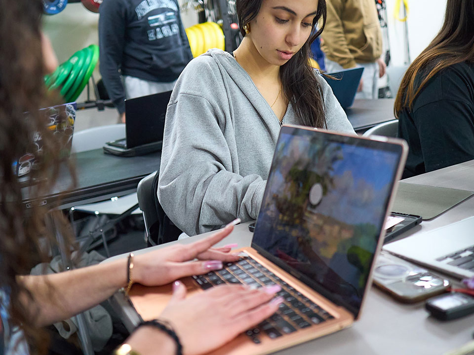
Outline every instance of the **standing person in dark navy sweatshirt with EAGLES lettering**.
{"type": "Polygon", "coordinates": [[[99,13],[100,73],[124,122],[125,99],[173,90],[193,55],[177,0],[104,0],[99,13]]]}

